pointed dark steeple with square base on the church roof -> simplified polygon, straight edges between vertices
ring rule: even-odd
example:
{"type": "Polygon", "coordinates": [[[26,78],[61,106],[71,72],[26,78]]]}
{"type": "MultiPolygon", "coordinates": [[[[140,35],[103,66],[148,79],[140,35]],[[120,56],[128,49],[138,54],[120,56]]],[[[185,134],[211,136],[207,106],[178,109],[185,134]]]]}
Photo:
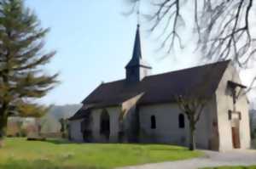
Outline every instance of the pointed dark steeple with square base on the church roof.
{"type": "Polygon", "coordinates": [[[128,65],[125,66],[125,69],[127,82],[142,81],[145,76],[150,74],[150,70],[152,69],[150,65],[143,60],[139,24],[137,25],[132,57],[128,65]]]}

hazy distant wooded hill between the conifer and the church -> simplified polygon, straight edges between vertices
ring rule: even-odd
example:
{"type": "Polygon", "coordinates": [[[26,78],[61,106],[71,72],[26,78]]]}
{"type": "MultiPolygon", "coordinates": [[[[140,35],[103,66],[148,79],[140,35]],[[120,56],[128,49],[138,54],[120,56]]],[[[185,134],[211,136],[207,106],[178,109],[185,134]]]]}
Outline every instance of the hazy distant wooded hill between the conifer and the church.
{"type": "Polygon", "coordinates": [[[60,132],[61,125],[59,120],[71,117],[81,106],[81,104],[54,105],[49,110],[49,113],[41,118],[41,132],[60,132]]]}

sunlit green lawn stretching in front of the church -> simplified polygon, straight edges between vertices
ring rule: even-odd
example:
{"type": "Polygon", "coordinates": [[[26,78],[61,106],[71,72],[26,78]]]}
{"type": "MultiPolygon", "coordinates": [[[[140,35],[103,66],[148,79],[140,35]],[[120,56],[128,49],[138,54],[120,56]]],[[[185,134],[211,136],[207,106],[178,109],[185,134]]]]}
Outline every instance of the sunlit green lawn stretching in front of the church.
{"type": "Polygon", "coordinates": [[[70,144],[7,138],[0,149],[0,169],[108,169],[202,155],[171,145],[70,144]]]}

